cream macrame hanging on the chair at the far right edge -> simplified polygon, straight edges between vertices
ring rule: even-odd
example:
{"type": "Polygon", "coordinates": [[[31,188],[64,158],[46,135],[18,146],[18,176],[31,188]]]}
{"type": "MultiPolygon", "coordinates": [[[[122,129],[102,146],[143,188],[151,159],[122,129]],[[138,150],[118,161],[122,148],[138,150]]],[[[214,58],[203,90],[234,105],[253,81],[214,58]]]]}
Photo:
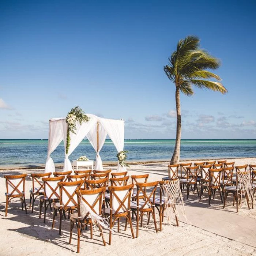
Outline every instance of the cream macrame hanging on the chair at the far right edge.
{"type": "Polygon", "coordinates": [[[240,183],[240,189],[241,189],[241,205],[242,207],[243,201],[246,202],[246,197],[248,197],[248,203],[252,206],[254,204],[254,195],[253,195],[253,187],[252,187],[252,181],[251,181],[251,175],[250,172],[237,172],[237,178],[240,183]],[[244,195],[244,200],[243,200],[244,195]]]}

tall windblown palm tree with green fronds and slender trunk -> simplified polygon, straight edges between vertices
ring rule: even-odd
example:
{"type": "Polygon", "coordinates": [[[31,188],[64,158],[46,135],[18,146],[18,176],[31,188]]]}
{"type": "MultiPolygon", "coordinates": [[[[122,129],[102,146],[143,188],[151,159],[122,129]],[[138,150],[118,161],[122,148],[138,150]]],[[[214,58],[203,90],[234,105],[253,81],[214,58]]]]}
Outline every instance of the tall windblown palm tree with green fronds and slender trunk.
{"type": "Polygon", "coordinates": [[[205,79],[214,78],[218,81],[221,78],[210,72],[209,69],[217,69],[220,61],[211,56],[206,50],[200,49],[199,38],[188,36],[181,39],[177,44],[177,49],[172,53],[163,70],[167,77],[175,84],[176,93],[176,143],[170,164],[180,161],[180,140],[181,140],[181,109],[180,91],[187,96],[193,95],[192,85],[200,89],[210,89],[227,93],[227,89],[220,82],[212,82],[205,79]]]}

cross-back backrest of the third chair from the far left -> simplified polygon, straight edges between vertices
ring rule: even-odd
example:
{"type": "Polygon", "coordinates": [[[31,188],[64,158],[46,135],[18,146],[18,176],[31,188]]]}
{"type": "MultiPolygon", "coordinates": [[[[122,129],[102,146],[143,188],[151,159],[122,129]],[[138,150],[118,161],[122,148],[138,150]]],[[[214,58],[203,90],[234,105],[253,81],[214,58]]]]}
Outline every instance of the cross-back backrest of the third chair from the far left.
{"type": "Polygon", "coordinates": [[[59,199],[60,198],[60,186],[58,183],[63,181],[65,176],[42,178],[44,181],[44,192],[45,197],[48,199],[59,199]]]}

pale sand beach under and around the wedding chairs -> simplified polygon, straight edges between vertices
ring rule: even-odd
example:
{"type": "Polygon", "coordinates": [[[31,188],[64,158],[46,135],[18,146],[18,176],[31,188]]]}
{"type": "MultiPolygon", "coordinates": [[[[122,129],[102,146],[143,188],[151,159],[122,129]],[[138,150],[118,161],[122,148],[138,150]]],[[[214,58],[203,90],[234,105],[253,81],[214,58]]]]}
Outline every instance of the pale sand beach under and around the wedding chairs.
{"type": "MultiPolygon", "coordinates": [[[[256,158],[229,159],[235,165],[256,164],[256,158]]],[[[167,175],[168,162],[154,162],[131,164],[128,175],[149,173],[148,181],[162,180],[167,175]]],[[[113,169],[104,166],[104,169],[113,169]]],[[[7,217],[5,211],[5,174],[40,173],[42,169],[1,170],[0,172],[0,255],[77,255],[76,227],[74,228],[71,244],[69,240],[69,219],[63,221],[62,234],[59,236],[58,218],[52,230],[52,211],[48,210],[46,223],[39,219],[39,200],[35,202],[34,213],[28,209],[28,214],[21,211],[20,202],[10,204],[7,217]]],[[[26,202],[29,206],[29,190],[31,178],[26,178],[26,202]]],[[[99,232],[94,231],[93,239],[90,230],[86,230],[80,241],[80,255],[256,255],[256,209],[239,209],[232,206],[232,197],[229,196],[225,209],[222,208],[219,195],[212,199],[208,206],[207,193],[202,201],[192,193],[187,200],[185,191],[183,198],[187,220],[180,216],[180,226],[173,220],[169,225],[165,218],[162,231],[155,233],[153,221],[139,229],[139,237],[132,239],[131,231],[124,231],[124,222],[121,222],[121,232],[114,232],[112,245],[103,246],[99,232]]],[[[159,226],[159,215],[157,214],[159,226]]],[[[136,221],[133,219],[133,230],[136,221]]],[[[117,230],[117,227],[114,227],[117,230]]],[[[108,242],[109,231],[104,231],[108,242]]]]}

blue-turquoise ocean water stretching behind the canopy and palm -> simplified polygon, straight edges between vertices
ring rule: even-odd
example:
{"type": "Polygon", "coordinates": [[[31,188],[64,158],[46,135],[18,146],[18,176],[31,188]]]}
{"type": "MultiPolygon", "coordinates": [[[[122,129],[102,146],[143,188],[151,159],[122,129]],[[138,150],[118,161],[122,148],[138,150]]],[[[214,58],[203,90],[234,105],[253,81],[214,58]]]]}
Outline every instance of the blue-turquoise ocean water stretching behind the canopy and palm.
{"type": "MultiPolygon", "coordinates": [[[[129,161],[169,160],[175,140],[125,140],[129,161]]],[[[43,139],[0,139],[0,165],[35,166],[44,164],[48,140],[43,139]]],[[[116,161],[116,148],[106,140],[100,152],[102,161],[116,161]]],[[[95,159],[95,151],[88,140],[83,140],[70,155],[70,160],[86,155],[95,159]]],[[[55,163],[64,161],[63,142],[51,154],[55,163]]],[[[181,160],[256,157],[256,140],[182,140],[181,160]]]]}

